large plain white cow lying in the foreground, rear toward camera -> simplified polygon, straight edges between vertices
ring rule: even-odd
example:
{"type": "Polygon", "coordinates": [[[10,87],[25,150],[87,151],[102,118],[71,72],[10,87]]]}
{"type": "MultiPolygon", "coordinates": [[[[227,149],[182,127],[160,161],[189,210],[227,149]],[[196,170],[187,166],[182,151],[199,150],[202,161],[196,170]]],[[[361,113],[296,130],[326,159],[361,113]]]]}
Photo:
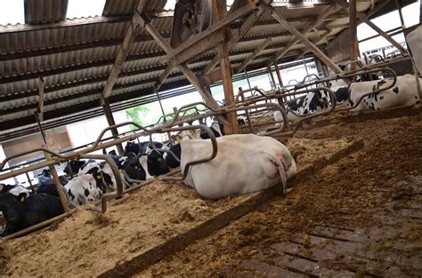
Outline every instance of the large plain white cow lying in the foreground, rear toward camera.
{"type": "MultiPolygon", "coordinates": [[[[209,199],[256,192],[282,185],[296,173],[288,148],[271,137],[253,134],[217,138],[218,153],[207,163],[191,166],[185,184],[209,199]]],[[[183,139],[181,170],[212,152],[209,139],[183,139]]]]}

